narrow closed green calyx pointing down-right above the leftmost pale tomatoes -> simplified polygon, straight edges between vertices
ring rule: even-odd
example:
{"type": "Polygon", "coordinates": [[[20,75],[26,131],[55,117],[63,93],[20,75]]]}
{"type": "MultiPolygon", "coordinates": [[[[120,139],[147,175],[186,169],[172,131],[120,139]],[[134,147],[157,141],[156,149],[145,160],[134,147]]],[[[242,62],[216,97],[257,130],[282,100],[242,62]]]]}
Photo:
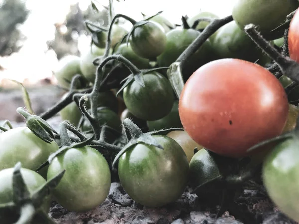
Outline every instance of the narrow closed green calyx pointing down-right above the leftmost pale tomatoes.
{"type": "Polygon", "coordinates": [[[17,108],[16,111],[25,117],[26,125],[33,134],[47,143],[54,141],[54,133],[57,134],[57,132],[45,120],[37,115],[26,112],[21,107],[17,108]]]}

